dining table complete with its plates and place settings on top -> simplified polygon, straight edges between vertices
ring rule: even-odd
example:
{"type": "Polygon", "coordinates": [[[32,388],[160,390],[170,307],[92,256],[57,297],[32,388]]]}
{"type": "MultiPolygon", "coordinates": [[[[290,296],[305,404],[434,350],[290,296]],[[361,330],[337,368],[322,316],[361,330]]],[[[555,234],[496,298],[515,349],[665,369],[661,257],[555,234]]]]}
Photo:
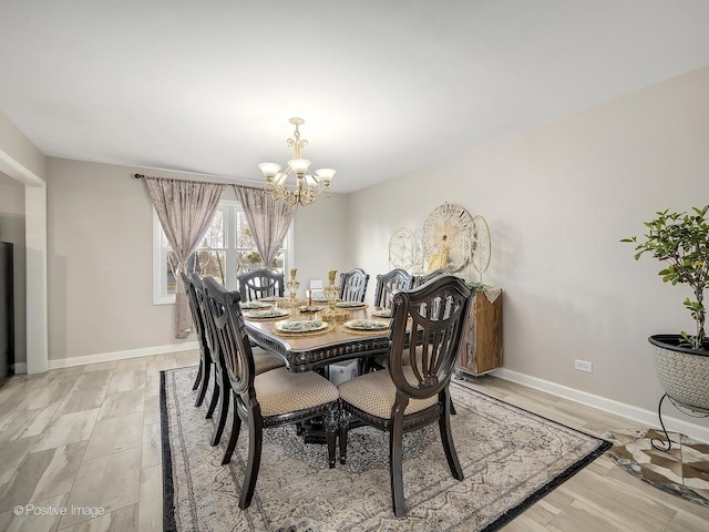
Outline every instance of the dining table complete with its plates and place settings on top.
{"type": "MultiPolygon", "coordinates": [[[[259,299],[268,308],[244,308],[250,340],[280,357],[289,371],[311,371],[351,359],[361,362],[389,350],[386,309],[362,303],[259,299]]],[[[256,305],[251,305],[254,307],[256,305]]],[[[360,365],[361,367],[361,365],[360,365]]]]}

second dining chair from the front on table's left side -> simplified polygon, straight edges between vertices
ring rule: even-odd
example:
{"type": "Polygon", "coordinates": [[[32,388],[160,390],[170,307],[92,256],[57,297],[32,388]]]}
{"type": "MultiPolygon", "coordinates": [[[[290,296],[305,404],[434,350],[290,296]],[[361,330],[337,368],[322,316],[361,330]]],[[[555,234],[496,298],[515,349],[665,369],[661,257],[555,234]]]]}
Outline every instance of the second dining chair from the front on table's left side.
{"type": "MultiPolygon", "coordinates": [[[[197,274],[191,274],[188,279],[189,287],[194,290],[196,306],[204,325],[205,350],[209,355],[207,365],[212,368],[210,372],[214,374],[212,400],[209,401],[209,407],[207,408],[207,413],[205,416],[205,418],[210,419],[214,417],[214,412],[217,413],[216,423],[209,439],[209,444],[214,447],[219,443],[226,427],[226,420],[229,412],[229,381],[225,369],[224,351],[222,350],[216,336],[217,332],[213,316],[207,308],[203,280],[197,274]]],[[[260,375],[286,365],[286,362],[280,358],[260,347],[254,348],[253,355],[256,375],[260,375]]],[[[209,372],[209,370],[207,370],[207,372],[209,372]]]]}

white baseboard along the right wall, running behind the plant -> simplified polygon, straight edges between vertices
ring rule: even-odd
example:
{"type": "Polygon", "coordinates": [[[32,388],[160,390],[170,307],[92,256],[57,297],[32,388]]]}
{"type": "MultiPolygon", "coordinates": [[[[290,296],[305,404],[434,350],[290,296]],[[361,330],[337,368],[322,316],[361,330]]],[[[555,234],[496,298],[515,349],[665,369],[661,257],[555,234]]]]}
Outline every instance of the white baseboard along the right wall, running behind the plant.
{"type": "MultiPolygon", "coordinates": [[[[587,393],[585,391],[568,388],[566,386],[549,382],[548,380],[538,379],[536,377],[531,377],[528,375],[520,374],[517,371],[512,371],[505,368],[496,369],[492,371],[491,375],[494,375],[495,377],[504,380],[508,380],[511,382],[528,386],[530,388],[534,388],[535,390],[546,391],[547,393],[552,393],[553,396],[562,397],[564,399],[586,405],[588,407],[597,408],[598,410],[603,410],[605,412],[615,413],[616,416],[621,416],[624,418],[641,422],[643,424],[647,424],[648,427],[659,428],[659,420],[657,417],[657,411],[655,410],[646,410],[643,408],[633,407],[619,401],[614,401],[613,399],[587,393]]],[[[671,416],[665,415],[664,412],[662,421],[665,422],[665,427],[668,431],[680,432],[699,441],[709,442],[708,427],[691,423],[684,419],[674,418],[671,416]]]]}

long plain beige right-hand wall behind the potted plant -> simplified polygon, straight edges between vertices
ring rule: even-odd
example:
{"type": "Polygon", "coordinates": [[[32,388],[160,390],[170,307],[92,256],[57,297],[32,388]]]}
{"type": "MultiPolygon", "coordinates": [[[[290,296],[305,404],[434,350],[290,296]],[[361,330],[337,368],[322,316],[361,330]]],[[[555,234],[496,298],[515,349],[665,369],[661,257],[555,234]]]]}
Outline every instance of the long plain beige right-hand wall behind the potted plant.
{"type": "Polygon", "coordinates": [[[351,194],[353,260],[387,270],[393,229],[461,204],[491,228],[484,280],[504,289],[504,367],[654,410],[646,338],[691,327],[689,294],[618,241],[656,211],[709,203],[708,145],[705,68],[351,194]]]}

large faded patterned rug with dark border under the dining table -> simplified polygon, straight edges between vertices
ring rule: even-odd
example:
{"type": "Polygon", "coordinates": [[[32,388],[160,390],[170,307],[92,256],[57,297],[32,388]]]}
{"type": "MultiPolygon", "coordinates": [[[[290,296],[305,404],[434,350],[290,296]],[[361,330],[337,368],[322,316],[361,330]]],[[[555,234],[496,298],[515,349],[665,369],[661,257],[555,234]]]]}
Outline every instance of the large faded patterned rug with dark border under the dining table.
{"type": "MultiPolygon", "coordinates": [[[[251,505],[238,508],[248,436],[222,466],[228,430],[209,447],[212,421],[195,408],[196,368],[163,371],[164,528],[168,531],[493,531],[579,471],[609,446],[504,401],[451,386],[453,438],[465,479],[450,472],[438,424],[405,434],[407,516],[391,508],[388,434],[350,431],[348,463],[329,469],[323,446],[294,427],[264,431],[251,505]]],[[[228,423],[227,423],[228,426],[228,423]]]]}

